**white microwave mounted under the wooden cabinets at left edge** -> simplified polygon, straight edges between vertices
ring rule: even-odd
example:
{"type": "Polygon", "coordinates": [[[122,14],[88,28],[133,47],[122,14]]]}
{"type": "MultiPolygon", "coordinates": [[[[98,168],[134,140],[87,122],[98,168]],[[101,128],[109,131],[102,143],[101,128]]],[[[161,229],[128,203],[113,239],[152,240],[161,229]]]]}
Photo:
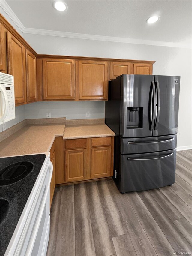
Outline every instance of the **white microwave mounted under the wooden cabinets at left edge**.
{"type": "Polygon", "coordinates": [[[14,77],[0,72],[0,124],[15,119],[14,77]]]}

